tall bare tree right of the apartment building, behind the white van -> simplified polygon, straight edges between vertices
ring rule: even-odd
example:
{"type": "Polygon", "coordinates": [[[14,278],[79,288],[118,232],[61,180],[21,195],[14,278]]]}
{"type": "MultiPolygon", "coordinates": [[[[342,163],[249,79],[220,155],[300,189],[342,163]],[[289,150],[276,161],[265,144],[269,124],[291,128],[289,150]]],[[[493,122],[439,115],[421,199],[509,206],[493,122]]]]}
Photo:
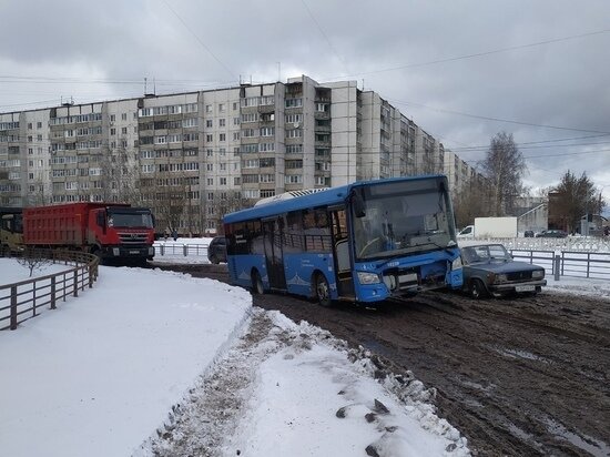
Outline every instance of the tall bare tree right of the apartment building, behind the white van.
{"type": "Polygon", "coordinates": [[[491,139],[481,167],[494,184],[492,215],[511,213],[515,200],[523,191],[522,176],[527,171],[523,154],[515,144],[512,133],[500,132],[491,139]]]}

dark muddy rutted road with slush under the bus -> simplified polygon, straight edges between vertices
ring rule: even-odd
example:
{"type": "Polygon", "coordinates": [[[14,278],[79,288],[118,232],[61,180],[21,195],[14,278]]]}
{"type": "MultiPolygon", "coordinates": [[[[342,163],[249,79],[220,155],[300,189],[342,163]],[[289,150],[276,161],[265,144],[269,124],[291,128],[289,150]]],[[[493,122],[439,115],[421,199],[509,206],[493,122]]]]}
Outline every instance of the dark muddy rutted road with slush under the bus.
{"type": "MultiPolygon", "coordinates": [[[[224,265],[175,265],[228,281],[224,265]]],[[[481,456],[610,456],[610,299],[545,291],[475,302],[425,293],[376,309],[287,295],[254,305],[307,321],[436,387],[438,415],[481,456]]]]}

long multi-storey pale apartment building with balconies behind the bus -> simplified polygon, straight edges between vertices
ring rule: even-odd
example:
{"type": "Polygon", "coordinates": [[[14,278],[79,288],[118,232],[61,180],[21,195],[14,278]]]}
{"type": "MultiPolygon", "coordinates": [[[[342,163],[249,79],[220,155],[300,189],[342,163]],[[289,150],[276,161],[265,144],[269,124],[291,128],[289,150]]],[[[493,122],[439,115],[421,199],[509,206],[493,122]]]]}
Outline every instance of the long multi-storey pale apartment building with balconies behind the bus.
{"type": "Polygon", "coordinates": [[[286,191],[438,173],[443,144],[355,81],[284,82],[0,113],[0,205],[129,202],[214,233],[286,191]]]}

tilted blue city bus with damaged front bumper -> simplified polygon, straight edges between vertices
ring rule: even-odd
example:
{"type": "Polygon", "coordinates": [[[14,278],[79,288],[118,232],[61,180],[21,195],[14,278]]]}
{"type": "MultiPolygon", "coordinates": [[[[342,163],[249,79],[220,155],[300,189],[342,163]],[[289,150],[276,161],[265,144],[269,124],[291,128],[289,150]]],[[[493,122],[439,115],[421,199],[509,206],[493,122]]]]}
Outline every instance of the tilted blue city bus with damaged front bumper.
{"type": "Polygon", "coordinates": [[[460,288],[447,177],[363,181],[272,197],[223,219],[235,285],[373,304],[460,288]]]}

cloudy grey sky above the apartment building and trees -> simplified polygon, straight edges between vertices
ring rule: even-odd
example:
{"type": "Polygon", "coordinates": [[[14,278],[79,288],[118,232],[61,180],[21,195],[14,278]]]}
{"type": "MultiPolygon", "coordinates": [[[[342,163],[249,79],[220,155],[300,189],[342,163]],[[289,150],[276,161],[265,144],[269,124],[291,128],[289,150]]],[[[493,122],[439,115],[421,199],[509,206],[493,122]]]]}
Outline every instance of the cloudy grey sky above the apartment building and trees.
{"type": "Polygon", "coordinates": [[[514,134],[523,183],[586,172],[610,202],[610,2],[3,1],[0,111],[306,74],[355,80],[477,166],[514,134]]]}

